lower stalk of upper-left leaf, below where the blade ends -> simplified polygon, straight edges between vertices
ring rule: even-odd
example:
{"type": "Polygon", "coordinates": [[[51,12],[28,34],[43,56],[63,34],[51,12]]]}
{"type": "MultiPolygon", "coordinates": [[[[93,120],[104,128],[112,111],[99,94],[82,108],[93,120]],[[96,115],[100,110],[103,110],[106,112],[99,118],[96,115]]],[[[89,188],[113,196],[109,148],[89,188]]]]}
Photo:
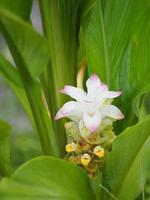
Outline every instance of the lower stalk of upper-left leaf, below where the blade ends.
{"type": "Polygon", "coordinates": [[[58,156],[57,142],[52,122],[42,102],[40,86],[34,82],[25,83],[25,90],[31,106],[44,154],[58,156]]]}

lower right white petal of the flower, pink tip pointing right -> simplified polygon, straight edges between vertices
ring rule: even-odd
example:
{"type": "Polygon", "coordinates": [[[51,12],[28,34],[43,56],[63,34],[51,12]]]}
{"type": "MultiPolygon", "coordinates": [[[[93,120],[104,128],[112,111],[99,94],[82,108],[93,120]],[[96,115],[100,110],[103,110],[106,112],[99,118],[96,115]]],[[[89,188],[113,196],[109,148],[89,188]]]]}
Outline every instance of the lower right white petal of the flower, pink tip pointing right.
{"type": "Polygon", "coordinates": [[[116,106],[113,105],[107,105],[103,108],[102,113],[112,117],[114,119],[123,119],[124,115],[123,113],[117,108],[116,106]]]}

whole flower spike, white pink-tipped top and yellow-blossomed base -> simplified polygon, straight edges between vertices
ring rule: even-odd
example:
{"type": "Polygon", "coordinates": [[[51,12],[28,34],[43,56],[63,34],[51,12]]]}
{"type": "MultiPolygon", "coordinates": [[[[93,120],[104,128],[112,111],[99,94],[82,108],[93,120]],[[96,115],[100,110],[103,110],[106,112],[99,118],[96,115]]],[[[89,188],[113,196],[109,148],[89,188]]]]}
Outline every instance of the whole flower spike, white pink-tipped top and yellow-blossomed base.
{"type": "MultiPolygon", "coordinates": [[[[84,69],[83,69],[84,70],[84,69]]],[[[74,100],[65,103],[55,116],[71,121],[65,123],[67,152],[65,159],[84,168],[91,176],[102,170],[105,154],[111,150],[116,138],[113,122],[124,118],[120,109],[112,105],[122,92],[109,91],[96,74],[86,81],[87,91],[82,89],[84,72],[77,78],[78,87],[66,85],[60,90],[74,100]]]]}

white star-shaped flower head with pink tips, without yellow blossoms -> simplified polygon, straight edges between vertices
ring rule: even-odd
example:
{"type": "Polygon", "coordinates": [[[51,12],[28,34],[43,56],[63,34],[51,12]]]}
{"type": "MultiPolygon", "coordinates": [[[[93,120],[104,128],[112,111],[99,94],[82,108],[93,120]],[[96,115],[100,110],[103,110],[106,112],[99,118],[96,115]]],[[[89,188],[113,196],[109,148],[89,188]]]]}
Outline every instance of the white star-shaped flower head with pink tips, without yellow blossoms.
{"type": "Polygon", "coordinates": [[[124,118],[123,113],[114,105],[114,98],[121,95],[120,91],[109,91],[108,86],[102,83],[96,74],[86,81],[87,92],[80,88],[66,85],[61,93],[69,95],[76,101],[65,103],[57,112],[55,119],[67,117],[86,127],[89,132],[95,132],[104,118],[112,120],[124,118]]]}

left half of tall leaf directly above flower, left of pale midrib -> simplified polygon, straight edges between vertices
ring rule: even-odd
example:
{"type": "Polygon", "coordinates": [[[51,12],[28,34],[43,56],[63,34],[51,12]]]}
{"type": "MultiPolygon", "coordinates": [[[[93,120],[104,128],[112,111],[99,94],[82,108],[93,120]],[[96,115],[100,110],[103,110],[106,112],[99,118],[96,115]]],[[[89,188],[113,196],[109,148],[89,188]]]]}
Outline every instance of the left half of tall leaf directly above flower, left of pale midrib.
{"type": "Polygon", "coordinates": [[[83,23],[84,43],[89,73],[97,73],[108,81],[108,55],[101,2],[95,1],[83,23]]]}

